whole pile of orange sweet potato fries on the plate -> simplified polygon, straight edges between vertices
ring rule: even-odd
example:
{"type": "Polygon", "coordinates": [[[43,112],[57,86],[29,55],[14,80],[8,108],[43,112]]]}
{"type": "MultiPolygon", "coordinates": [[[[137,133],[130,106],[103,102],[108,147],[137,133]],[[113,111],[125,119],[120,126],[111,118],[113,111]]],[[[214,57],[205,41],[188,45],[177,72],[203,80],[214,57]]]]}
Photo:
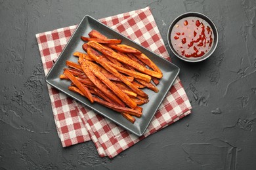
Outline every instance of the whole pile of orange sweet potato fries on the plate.
{"type": "Polygon", "coordinates": [[[148,94],[142,88],[158,92],[156,85],[163,76],[158,66],[136,48],[108,39],[96,30],[81,37],[83,52],[75,52],[78,62],[66,61],[61,79],[70,80],[69,90],[100,103],[134,123],[142,116],[148,94]],[[154,84],[152,83],[154,82],[154,84]]]}

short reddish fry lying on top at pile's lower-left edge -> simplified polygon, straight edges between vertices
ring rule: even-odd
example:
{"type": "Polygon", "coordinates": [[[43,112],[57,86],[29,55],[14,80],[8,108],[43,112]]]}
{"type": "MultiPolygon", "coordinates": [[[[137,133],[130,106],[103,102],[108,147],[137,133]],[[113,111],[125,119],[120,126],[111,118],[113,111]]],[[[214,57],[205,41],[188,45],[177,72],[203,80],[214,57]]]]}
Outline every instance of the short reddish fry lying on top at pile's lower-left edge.
{"type": "Polygon", "coordinates": [[[73,82],[75,84],[75,86],[77,86],[77,88],[79,88],[79,90],[81,90],[81,92],[85,95],[85,97],[87,97],[87,99],[89,99],[89,101],[91,101],[91,103],[93,103],[93,95],[91,95],[88,88],[83,86],[83,84],[81,82],[79,82],[79,80],[77,80],[77,78],[75,78],[75,76],[72,75],[72,73],[70,73],[70,71],[68,71],[68,69],[64,70],[63,73],[64,73],[64,75],[68,76],[68,78],[71,80],[71,82],[73,82]]]}

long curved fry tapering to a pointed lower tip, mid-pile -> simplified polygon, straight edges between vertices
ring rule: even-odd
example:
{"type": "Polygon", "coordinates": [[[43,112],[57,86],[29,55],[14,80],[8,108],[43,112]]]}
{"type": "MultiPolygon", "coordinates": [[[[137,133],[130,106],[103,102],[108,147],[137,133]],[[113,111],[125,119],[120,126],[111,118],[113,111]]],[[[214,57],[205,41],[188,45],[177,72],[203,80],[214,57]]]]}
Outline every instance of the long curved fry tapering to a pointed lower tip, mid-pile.
{"type": "MultiPolygon", "coordinates": [[[[85,60],[85,61],[88,61],[88,60],[85,60]]],[[[103,84],[100,80],[98,80],[98,78],[96,78],[95,75],[93,75],[93,73],[91,72],[91,70],[89,69],[89,66],[85,63],[85,61],[83,58],[79,58],[78,62],[80,63],[83,71],[85,72],[85,75],[88,76],[88,78],[91,80],[91,82],[93,82],[93,84],[95,84],[95,86],[102,93],[104,93],[106,96],[110,97],[110,99],[115,101],[115,103],[118,103],[122,107],[125,107],[125,103],[123,103],[123,101],[121,101],[114,93],[112,93],[110,90],[108,90],[106,85],[103,84]]]]}

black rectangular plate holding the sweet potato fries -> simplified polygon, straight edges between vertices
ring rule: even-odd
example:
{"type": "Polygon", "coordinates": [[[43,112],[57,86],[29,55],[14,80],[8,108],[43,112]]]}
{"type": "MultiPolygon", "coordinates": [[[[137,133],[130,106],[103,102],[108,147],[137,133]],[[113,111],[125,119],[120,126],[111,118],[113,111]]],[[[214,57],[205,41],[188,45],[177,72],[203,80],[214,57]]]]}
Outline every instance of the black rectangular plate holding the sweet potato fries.
{"type": "Polygon", "coordinates": [[[95,20],[91,16],[86,15],[77,26],[77,29],[70,38],[70,41],[68,42],[68,44],[66,44],[66,47],[54,63],[51,71],[49,71],[48,75],[46,76],[46,82],[54,88],[60,90],[60,92],[64,92],[68,96],[83,103],[86,107],[89,107],[90,109],[95,110],[95,112],[102,114],[102,116],[109,118],[110,120],[112,120],[119,126],[124,127],[131,133],[141,136],[146,131],[146,128],[150,124],[150,121],[154,117],[154,114],[158,110],[158,107],[160,107],[163,99],[165,98],[165,95],[171,88],[178,74],[179,67],[177,67],[173,63],[167,61],[164,58],[161,58],[160,56],[154,54],[143,46],[140,46],[140,44],[137,44],[137,42],[131,41],[131,39],[128,39],[120,33],[117,33],[116,31],[114,31],[114,29],[102,24],[101,22],[98,22],[98,20],[95,20]],[[146,54],[148,58],[154,61],[154,63],[156,63],[156,65],[160,67],[163,73],[163,78],[161,78],[160,84],[158,84],[157,86],[159,89],[158,93],[152,92],[148,89],[144,90],[144,92],[148,93],[150,101],[142,105],[143,114],[141,118],[136,118],[134,124],[123,118],[121,114],[115,112],[114,110],[108,109],[97,103],[90,103],[90,101],[88,99],[85,99],[85,97],[82,97],[77,93],[71,92],[70,90],[68,90],[70,82],[66,80],[60,80],[59,78],[59,75],[63,73],[64,67],[66,67],[66,60],[77,62],[77,58],[73,56],[73,53],[75,51],[83,52],[82,45],[84,42],[81,41],[80,37],[88,37],[88,33],[92,29],[100,31],[100,33],[106,35],[106,37],[110,39],[122,39],[123,44],[127,44],[129,46],[137,48],[142,53],[146,54]]]}

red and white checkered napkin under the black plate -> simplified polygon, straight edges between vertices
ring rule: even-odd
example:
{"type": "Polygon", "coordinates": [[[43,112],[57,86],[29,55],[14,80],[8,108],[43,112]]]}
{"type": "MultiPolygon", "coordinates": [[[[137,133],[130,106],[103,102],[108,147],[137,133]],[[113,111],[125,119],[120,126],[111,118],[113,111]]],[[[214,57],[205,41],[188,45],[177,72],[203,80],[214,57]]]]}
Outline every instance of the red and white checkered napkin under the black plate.
{"type": "MultiPolygon", "coordinates": [[[[149,7],[110,16],[100,21],[170,60],[149,7]]],[[[45,75],[74,33],[75,27],[76,25],[36,35],[45,75]]],[[[47,86],[62,146],[93,140],[98,154],[110,158],[191,112],[188,97],[181,80],[177,78],[144,135],[137,137],[51,86],[47,86]]]]}

